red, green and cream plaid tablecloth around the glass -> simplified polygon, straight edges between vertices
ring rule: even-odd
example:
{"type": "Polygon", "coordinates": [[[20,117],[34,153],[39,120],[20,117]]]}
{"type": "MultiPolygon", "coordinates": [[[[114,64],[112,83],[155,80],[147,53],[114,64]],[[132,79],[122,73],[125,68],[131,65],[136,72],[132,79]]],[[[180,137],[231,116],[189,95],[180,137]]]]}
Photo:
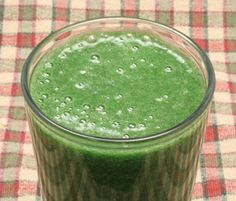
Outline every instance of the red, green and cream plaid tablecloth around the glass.
{"type": "Polygon", "coordinates": [[[19,83],[24,60],[52,30],[118,15],[174,27],[208,53],[217,84],[193,201],[236,200],[235,0],[0,0],[0,201],[39,199],[19,83]]]}

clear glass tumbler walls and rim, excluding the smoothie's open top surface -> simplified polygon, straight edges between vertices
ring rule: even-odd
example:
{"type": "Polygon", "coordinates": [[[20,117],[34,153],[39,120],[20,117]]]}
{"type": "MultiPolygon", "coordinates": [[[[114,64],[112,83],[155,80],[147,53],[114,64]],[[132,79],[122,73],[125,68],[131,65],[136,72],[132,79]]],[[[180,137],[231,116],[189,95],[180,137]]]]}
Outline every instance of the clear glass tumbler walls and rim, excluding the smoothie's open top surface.
{"type": "Polygon", "coordinates": [[[44,201],[191,200],[215,76],[208,57],[190,38],[162,24],[136,18],[79,22],[51,33],[32,51],[21,83],[44,201]],[[45,116],[29,89],[37,62],[72,37],[129,29],[157,35],[196,64],[206,87],[197,110],[173,128],[130,139],[89,136],[45,116]]]}

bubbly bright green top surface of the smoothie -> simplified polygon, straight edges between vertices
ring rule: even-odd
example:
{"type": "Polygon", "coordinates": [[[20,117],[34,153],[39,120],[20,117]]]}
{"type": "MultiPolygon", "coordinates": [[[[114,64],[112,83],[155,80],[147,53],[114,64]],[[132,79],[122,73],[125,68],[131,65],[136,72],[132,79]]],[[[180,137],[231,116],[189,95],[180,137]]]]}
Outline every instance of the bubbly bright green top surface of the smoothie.
{"type": "Polygon", "coordinates": [[[48,118],[84,134],[134,138],[170,129],[205,95],[196,65],[141,32],[82,35],[48,52],[30,91],[48,118]]]}

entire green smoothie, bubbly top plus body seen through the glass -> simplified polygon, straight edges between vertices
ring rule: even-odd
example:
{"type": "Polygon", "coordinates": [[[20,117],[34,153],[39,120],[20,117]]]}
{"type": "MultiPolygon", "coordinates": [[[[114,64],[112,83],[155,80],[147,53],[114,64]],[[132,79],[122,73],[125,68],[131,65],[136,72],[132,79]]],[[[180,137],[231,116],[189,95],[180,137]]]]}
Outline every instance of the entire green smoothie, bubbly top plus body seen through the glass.
{"type": "Polygon", "coordinates": [[[81,34],[37,62],[29,88],[51,125],[78,134],[27,108],[44,201],[190,201],[207,111],[129,141],[161,136],[203,100],[202,73],[178,48],[151,32],[81,34]]]}

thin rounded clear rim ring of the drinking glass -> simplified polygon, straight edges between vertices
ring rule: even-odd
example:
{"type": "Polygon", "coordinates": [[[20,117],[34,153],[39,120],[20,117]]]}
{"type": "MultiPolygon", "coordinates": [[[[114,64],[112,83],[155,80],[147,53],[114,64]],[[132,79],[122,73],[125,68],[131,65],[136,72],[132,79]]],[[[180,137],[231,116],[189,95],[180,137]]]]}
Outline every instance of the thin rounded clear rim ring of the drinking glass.
{"type": "Polygon", "coordinates": [[[26,61],[23,64],[22,73],[21,73],[21,88],[22,88],[23,97],[24,97],[25,101],[27,102],[29,107],[32,109],[32,111],[37,115],[37,117],[39,117],[46,124],[49,124],[50,126],[56,128],[56,129],[59,129],[62,132],[65,132],[65,133],[68,133],[68,134],[71,134],[74,136],[78,136],[78,137],[82,137],[82,138],[86,138],[86,139],[90,139],[90,140],[95,140],[95,141],[102,141],[102,142],[122,142],[122,143],[124,143],[124,142],[140,142],[140,141],[149,141],[149,140],[153,140],[153,139],[157,139],[157,138],[161,138],[161,137],[165,137],[165,136],[170,136],[171,134],[174,134],[174,133],[178,132],[179,130],[184,129],[189,124],[194,122],[194,120],[196,120],[198,117],[200,117],[204,113],[204,111],[207,109],[208,105],[210,104],[210,102],[212,100],[214,90],[215,90],[215,72],[214,72],[212,63],[211,63],[210,59],[208,58],[208,56],[206,55],[206,53],[190,37],[188,37],[184,33],[180,32],[172,27],[168,27],[168,26],[166,26],[162,23],[159,23],[159,22],[155,22],[155,21],[151,21],[151,20],[147,20],[147,19],[142,19],[142,18],[137,18],[137,17],[135,17],[135,18],[133,18],[133,17],[119,17],[119,16],[101,17],[101,18],[96,18],[96,19],[92,19],[92,20],[83,20],[83,21],[73,23],[71,25],[67,25],[57,31],[51,32],[47,37],[45,37],[37,46],[35,46],[33,48],[30,55],[27,57],[26,61]],[[117,20],[117,21],[118,20],[119,21],[127,20],[127,21],[134,21],[134,22],[136,21],[136,22],[143,22],[143,23],[150,24],[150,25],[153,25],[156,27],[160,27],[162,29],[168,30],[168,31],[180,36],[181,39],[183,39],[185,42],[187,42],[189,45],[191,45],[194,48],[194,50],[200,55],[200,58],[203,61],[204,66],[206,67],[206,71],[208,74],[208,76],[207,76],[208,77],[208,85],[206,88],[205,96],[202,99],[202,102],[199,104],[198,108],[193,113],[191,113],[191,115],[189,115],[186,119],[184,119],[180,123],[176,124],[175,126],[169,128],[169,129],[166,129],[164,131],[157,132],[157,133],[150,134],[148,136],[143,136],[143,137],[123,139],[123,138],[97,137],[94,135],[89,135],[89,134],[85,134],[83,132],[69,129],[67,127],[64,127],[64,126],[58,124],[54,120],[50,119],[50,117],[45,115],[39,109],[39,107],[34,102],[32,96],[31,96],[29,85],[28,85],[28,72],[29,72],[31,62],[32,62],[34,55],[37,54],[43,48],[43,46],[45,44],[50,42],[53,38],[55,38],[59,34],[62,34],[67,31],[71,31],[71,30],[75,29],[76,27],[81,26],[81,25],[86,25],[87,23],[102,22],[102,21],[107,21],[107,20],[117,20]]]}

